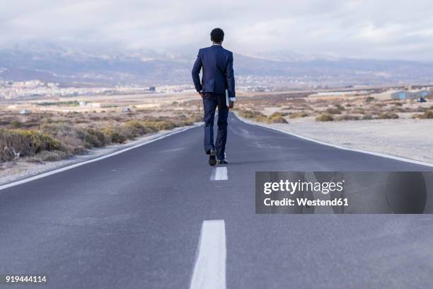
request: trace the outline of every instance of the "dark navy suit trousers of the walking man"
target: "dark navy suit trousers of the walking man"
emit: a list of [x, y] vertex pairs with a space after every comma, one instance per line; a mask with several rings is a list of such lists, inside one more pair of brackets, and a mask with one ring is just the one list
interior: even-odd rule
[[[214, 117], [218, 107], [218, 132], [214, 145]], [[226, 104], [226, 96], [217, 94], [204, 94], [204, 152], [210, 149], [217, 150], [217, 159], [224, 159], [227, 142], [227, 118], [229, 108]]]

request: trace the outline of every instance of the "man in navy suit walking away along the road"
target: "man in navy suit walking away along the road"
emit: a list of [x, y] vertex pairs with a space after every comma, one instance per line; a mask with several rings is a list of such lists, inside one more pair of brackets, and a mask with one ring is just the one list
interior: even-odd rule
[[[227, 117], [229, 108], [236, 100], [233, 75], [233, 53], [222, 47], [224, 31], [215, 28], [211, 32], [212, 46], [199, 50], [192, 67], [192, 81], [203, 98], [204, 108], [204, 152], [209, 154], [209, 164], [227, 164]], [[200, 70], [203, 69], [200, 82]], [[229, 107], [226, 104], [226, 90], [229, 93]], [[214, 116], [218, 107], [218, 133], [214, 145]]]

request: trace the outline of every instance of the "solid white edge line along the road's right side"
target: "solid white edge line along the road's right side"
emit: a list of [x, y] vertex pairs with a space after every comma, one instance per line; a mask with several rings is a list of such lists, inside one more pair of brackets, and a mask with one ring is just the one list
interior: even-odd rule
[[279, 130], [278, 128], [272, 128], [269, 125], [265, 125], [265, 124], [261, 124], [261, 123], [252, 123], [252, 122], [250, 122], [248, 120], [245, 120], [245, 119], [241, 118], [238, 115], [238, 113], [236, 113], [236, 112], [233, 112], [233, 113], [236, 115], [236, 118], [238, 118], [238, 120], [241, 120], [241, 122], [246, 123], [248, 125], [257, 125], [257, 126], [262, 127], [262, 128], [268, 128], [270, 130], [276, 130], [277, 132], [282, 132], [282, 133], [284, 133], [286, 135], [293, 135], [294, 137], [299, 137], [299, 138], [301, 138], [303, 140], [308, 140], [310, 142], [316, 142], [316, 143], [318, 143], [320, 145], [326, 145], [328, 147], [335, 147], [336, 149], [343, 149], [343, 150], [350, 151], [350, 152], [360, 152], [362, 154], [371, 154], [371, 155], [376, 156], [376, 157], [385, 157], [387, 159], [394, 159], [394, 160], [400, 161], [400, 162], [408, 162], [410, 164], [419, 164], [420, 166], [429, 166], [429, 167], [433, 168], [433, 164], [427, 163], [427, 162], [416, 161], [415, 159], [406, 159], [404, 157], [392, 156], [391, 154], [383, 154], [381, 152], [370, 152], [370, 151], [366, 151], [366, 150], [362, 150], [362, 149], [350, 149], [348, 147], [342, 147], [340, 145], [333, 145], [333, 144], [330, 144], [328, 142], [321, 142], [320, 140], [313, 140], [313, 139], [311, 139], [309, 137], [303, 137], [302, 135], [296, 135], [293, 132], [287, 132], [285, 130]]

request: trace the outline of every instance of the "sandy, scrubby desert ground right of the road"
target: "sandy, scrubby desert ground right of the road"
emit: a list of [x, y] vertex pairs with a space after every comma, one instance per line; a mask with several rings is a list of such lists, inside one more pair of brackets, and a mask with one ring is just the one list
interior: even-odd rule
[[433, 99], [391, 100], [368, 93], [287, 93], [239, 98], [238, 115], [352, 149], [433, 162]]

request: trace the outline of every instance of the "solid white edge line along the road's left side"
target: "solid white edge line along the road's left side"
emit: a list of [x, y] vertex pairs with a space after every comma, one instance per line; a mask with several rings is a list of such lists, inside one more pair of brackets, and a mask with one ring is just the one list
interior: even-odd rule
[[26, 178], [26, 179], [22, 179], [22, 180], [19, 180], [19, 181], [13, 181], [12, 183], [6, 183], [6, 184], [0, 186], [0, 191], [4, 190], [5, 188], [11, 188], [12, 186], [21, 185], [21, 183], [28, 183], [29, 181], [35, 181], [37, 179], [45, 178], [45, 176], [51, 176], [52, 174], [57, 174], [57, 173], [60, 173], [62, 171], [67, 171], [68, 169], [74, 169], [77, 166], [83, 166], [84, 164], [90, 164], [92, 162], [98, 162], [101, 159], [107, 159], [108, 157], [112, 157], [112, 156], [115, 156], [117, 154], [122, 154], [122, 152], [127, 152], [127, 151], [129, 151], [131, 149], [136, 149], [137, 147], [142, 147], [142, 146], [147, 145], [147, 144], [149, 144], [151, 142], [156, 142], [157, 140], [162, 140], [165, 137], [169, 137], [171, 135], [175, 135], [175, 134], [178, 134], [180, 132], [185, 132], [185, 130], [190, 130], [192, 128], [197, 128], [200, 125], [202, 125], [202, 124], [191, 125], [191, 126], [189, 126], [187, 128], [183, 128], [181, 130], [176, 130], [175, 132], [169, 132], [166, 135], [161, 135], [161, 137], [156, 137], [156, 138], [154, 138], [152, 140], [148, 140], [147, 142], [142, 142], [141, 144], [134, 145], [132, 147], [127, 147], [125, 149], [120, 149], [117, 152], [112, 152], [110, 154], [105, 154], [105, 155], [103, 155], [101, 157], [96, 157], [95, 159], [88, 159], [87, 161], [84, 161], [84, 162], [79, 162], [79, 163], [76, 163], [76, 164], [71, 164], [70, 166], [64, 166], [64, 167], [59, 168], [59, 169], [54, 169], [53, 171], [47, 171], [46, 173], [37, 174], [35, 176], [30, 176], [29, 178]]

